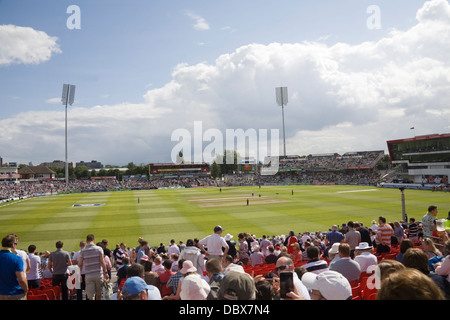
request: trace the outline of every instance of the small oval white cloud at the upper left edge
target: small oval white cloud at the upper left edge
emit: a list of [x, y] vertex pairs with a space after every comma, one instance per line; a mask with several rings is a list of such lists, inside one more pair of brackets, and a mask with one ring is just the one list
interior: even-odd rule
[[57, 38], [29, 27], [0, 25], [0, 66], [36, 64], [61, 53]]

